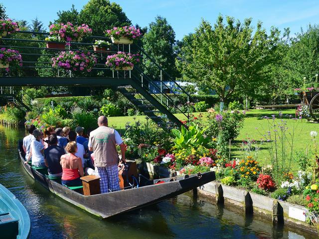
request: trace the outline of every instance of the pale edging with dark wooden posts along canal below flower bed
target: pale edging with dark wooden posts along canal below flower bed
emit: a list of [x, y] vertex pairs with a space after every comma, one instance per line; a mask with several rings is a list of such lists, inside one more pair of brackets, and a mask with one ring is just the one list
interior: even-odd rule
[[[286, 223], [317, 234], [319, 232], [318, 217], [305, 207], [226, 186], [215, 181], [204, 184], [197, 189], [198, 194], [216, 203], [236, 205], [244, 209], [246, 214], [260, 214], [272, 220], [274, 224]], [[308, 218], [315, 222], [313, 226], [306, 222]]]

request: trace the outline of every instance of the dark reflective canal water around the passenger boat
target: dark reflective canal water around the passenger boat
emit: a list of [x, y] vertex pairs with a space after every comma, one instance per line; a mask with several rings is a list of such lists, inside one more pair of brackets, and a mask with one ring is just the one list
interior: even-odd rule
[[[34, 182], [18, 160], [24, 129], [0, 125], [0, 183], [24, 205], [31, 239], [310, 239], [296, 228], [274, 228], [186, 193], [142, 210], [102, 221], [52, 195]], [[1, 238], [1, 236], [0, 236]]]

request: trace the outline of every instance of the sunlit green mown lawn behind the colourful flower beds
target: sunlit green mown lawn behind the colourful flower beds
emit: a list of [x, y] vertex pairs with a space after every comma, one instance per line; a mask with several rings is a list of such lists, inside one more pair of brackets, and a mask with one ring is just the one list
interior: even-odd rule
[[[282, 111], [284, 115], [292, 115], [295, 117], [295, 110], [285, 110]], [[198, 115], [200, 113], [194, 113], [194, 115]], [[205, 113], [202, 113], [205, 115]], [[276, 118], [279, 117], [279, 111], [271, 111], [271, 110], [251, 110], [246, 112], [244, 126], [240, 131], [240, 135], [236, 138], [236, 140], [231, 145], [231, 157], [240, 157], [240, 145], [242, 140], [247, 139], [248, 137], [255, 140], [260, 140], [263, 134], [266, 134], [268, 131], [268, 120], [261, 119], [263, 116], [271, 117], [271, 115], [276, 115]], [[175, 114], [178, 119], [185, 119], [182, 114]], [[121, 133], [124, 133], [125, 123], [130, 121], [134, 122], [134, 120], [145, 121], [145, 116], [136, 116], [136, 117], [110, 117], [109, 124], [113, 125], [115, 128], [120, 130]], [[305, 150], [306, 147], [312, 146], [312, 141], [310, 137], [310, 131], [316, 130], [319, 132], [319, 123], [307, 122], [307, 120], [298, 119], [293, 124], [292, 120], [288, 120], [289, 131], [292, 132], [292, 127], [295, 125], [295, 137], [294, 137], [294, 149], [295, 151]], [[257, 129], [256, 129], [257, 128]], [[258, 161], [262, 165], [270, 164], [269, 152], [267, 150], [268, 143], [264, 143], [258, 154]], [[295, 160], [298, 160], [295, 158]], [[297, 163], [294, 161], [293, 170], [297, 170]]]

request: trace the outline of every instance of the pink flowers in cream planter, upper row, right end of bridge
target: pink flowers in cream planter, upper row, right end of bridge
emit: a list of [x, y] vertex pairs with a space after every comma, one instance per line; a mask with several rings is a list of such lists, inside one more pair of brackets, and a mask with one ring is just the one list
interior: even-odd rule
[[106, 31], [106, 36], [111, 37], [112, 42], [116, 44], [132, 44], [133, 40], [141, 35], [140, 28], [134, 26], [113, 27]]

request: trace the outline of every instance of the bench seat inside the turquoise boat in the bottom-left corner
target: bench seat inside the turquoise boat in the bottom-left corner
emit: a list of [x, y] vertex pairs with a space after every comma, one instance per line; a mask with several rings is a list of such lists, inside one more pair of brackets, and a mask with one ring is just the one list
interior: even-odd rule
[[10, 213], [0, 213], [1, 238], [16, 238], [19, 234], [19, 220]]

